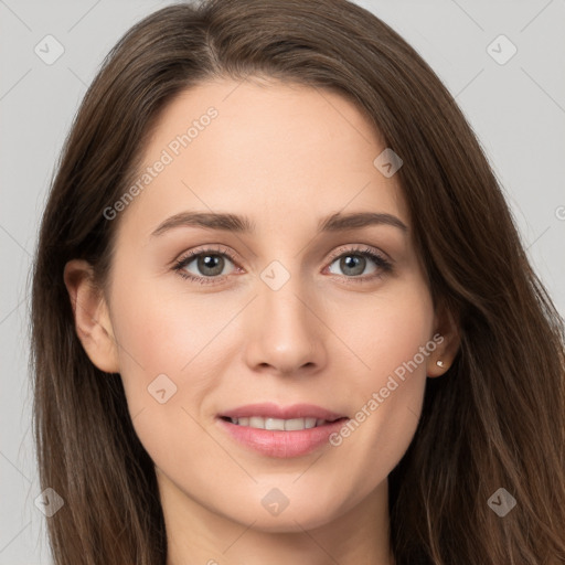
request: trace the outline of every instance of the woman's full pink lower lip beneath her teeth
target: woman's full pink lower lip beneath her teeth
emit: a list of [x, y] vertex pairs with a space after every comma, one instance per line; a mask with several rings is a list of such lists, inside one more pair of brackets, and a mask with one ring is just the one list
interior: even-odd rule
[[310, 454], [324, 444], [329, 444], [329, 436], [338, 431], [347, 418], [295, 431], [257, 429], [232, 424], [222, 418], [218, 418], [218, 422], [223, 429], [239, 444], [262, 455], [286, 459]]

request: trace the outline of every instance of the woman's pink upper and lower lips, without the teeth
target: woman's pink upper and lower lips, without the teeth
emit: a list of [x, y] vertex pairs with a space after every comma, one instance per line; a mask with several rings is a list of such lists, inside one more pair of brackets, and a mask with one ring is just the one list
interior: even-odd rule
[[[270, 418], [317, 418], [328, 422], [322, 426], [295, 431], [256, 429], [249, 426], [232, 424], [223, 418], [246, 418], [263, 416]], [[300, 457], [315, 451], [329, 443], [329, 436], [338, 431], [347, 416], [337, 414], [312, 404], [296, 404], [280, 407], [273, 403], [252, 404], [227, 411], [218, 415], [218, 424], [237, 443], [267, 457], [290, 458]]]

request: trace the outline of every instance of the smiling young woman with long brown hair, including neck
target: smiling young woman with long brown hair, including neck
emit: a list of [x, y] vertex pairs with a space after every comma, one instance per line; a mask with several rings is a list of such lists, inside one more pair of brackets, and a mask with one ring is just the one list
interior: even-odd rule
[[360, 7], [135, 25], [32, 317], [57, 564], [565, 559], [562, 320], [452, 97]]

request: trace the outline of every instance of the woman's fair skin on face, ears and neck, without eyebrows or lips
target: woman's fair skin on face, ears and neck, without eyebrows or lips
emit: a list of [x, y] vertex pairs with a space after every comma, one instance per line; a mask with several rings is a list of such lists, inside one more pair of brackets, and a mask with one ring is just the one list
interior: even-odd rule
[[[65, 269], [83, 345], [96, 366], [121, 374], [156, 463], [167, 563], [390, 565], [387, 476], [416, 430], [426, 376], [449, 367], [458, 337], [434, 309], [397, 175], [373, 166], [386, 146], [338, 94], [216, 79], [166, 108], [146, 166], [210, 106], [217, 118], [114, 220], [104, 292], [85, 262]], [[185, 211], [246, 215], [256, 231], [184, 225], [151, 235]], [[319, 220], [338, 212], [387, 213], [408, 230], [317, 234]], [[339, 259], [356, 245], [384, 256], [392, 271], [367, 258], [351, 274]], [[173, 270], [185, 252], [210, 246], [236, 259], [225, 258], [215, 284]], [[278, 290], [260, 278], [274, 260], [290, 276]], [[186, 270], [207, 273], [196, 260]], [[339, 447], [271, 458], [218, 425], [222, 411], [260, 402], [354, 417], [438, 332], [441, 344]], [[164, 404], [148, 393], [160, 374], [177, 386]], [[273, 488], [289, 501], [278, 515], [262, 504]]]

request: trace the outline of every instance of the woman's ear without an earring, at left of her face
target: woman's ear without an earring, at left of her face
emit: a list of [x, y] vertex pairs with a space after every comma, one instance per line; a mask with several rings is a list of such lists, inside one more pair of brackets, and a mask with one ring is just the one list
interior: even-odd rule
[[119, 358], [104, 294], [94, 284], [92, 265], [82, 259], [65, 265], [64, 281], [78, 339], [90, 361], [106, 373], [119, 373]]

